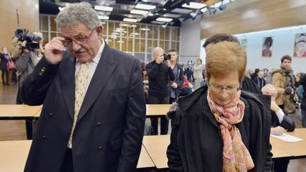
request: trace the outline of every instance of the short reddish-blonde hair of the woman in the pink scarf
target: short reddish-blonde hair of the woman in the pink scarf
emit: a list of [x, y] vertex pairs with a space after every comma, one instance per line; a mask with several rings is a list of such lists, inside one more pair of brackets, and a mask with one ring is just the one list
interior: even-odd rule
[[206, 76], [226, 77], [237, 71], [242, 83], [246, 70], [246, 52], [237, 42], [219, 42], [213, 45], [206, 55]]

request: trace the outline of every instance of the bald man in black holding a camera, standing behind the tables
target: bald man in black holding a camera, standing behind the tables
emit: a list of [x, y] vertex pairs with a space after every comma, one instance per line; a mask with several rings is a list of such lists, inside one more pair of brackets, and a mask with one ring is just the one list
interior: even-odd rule
[[[155, 47], [152, 52], [154, 60], [146, 66], [149, 76], [149, 104], [169, 104], [170, 100], [170, 81], [174, 81], [174, 72], [170, 67], [170, 60], [164, 62], [164, 50]], [[157, 118], [151, 118], [153, 133], [158, 134]], [[168, 133], [168, 120], [166, 116], [161, 117], [161, 134]]]

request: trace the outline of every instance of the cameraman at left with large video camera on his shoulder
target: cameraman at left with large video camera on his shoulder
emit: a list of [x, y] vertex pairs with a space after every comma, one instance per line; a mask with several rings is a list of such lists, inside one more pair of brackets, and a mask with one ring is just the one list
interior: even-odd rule
[[[20, 93], [21, 86], [26, 77], [33, 72], [44, 50], [42, 48], [42, 33], [40, 32], [34, 31], [32, 34], [21, 33], [18, 35], [18, 40], [22, 42], [21, 49], [23, 51], [20, 57], [16, 59], [16, 69], [19, 74], [16, 104], [23, 104]], [[32, 139], [33, 128], [31, 120], [26, 120], [26, 132], [28, 139]]]

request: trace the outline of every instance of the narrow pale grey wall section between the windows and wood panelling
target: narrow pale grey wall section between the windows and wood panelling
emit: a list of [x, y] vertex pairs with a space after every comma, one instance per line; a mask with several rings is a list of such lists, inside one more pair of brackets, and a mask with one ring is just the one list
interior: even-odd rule
[[179, 62], [188, 60], [196, 62], [200, 57], [200, 15], [196, 19], [188, 19], [181, 24]]

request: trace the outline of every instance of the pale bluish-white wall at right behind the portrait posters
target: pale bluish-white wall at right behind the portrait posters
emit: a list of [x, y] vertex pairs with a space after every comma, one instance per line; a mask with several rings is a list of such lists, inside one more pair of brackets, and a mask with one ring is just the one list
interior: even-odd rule
[[[248, 69], [269, 70], [280, 67], [280, 58], [284, 55], [293, 57], [295, 45], [295, 34], [306, 33], [306, 25], [295, 26], [290, 28], [279, 28], [274, 30], [264, 30], [254, 33], [244, 33], [235, 35], [239, 40], [246, 39], [246, 55]], [[261, 57], [263, 38], [273, 37], [272, 57]], [[204, 40], [201, 40], [203, 45]], [[205, 50], [200, 49], [201, 57], [205, 57]], [[306, 72], [306, 57], [293, 57], [291, 64], [295, 74], [298, 72]]]

